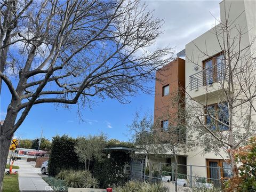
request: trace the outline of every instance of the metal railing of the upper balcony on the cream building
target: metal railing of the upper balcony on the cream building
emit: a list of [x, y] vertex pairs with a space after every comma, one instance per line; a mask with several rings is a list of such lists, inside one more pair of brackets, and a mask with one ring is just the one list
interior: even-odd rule
[[226, 65], [218, 63], [211, 68], [203, 69], [193, 75], [189, 76], [190, 91], [196, 91], [199, 87], [211, 85], [214, 82], [219, 82], [226, 79]]

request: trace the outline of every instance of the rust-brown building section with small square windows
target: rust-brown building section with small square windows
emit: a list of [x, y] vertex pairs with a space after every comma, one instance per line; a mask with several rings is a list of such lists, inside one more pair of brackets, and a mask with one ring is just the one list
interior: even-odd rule
[[[155, 106], [154, 121], [159, 123], [163, 133], [168, 130], [170, 124], [173, 125], [172, 118], [178, 113], [179, 103], [170, 103], [171, 97], [185, 98], [185, 60], [177, 58], [156, 72], [155, 83]], [[176, 118], [176, 117], [175, 117]], [[169, 137], [168, 137], [169, 138]], [[170, 154], [170, 153], [169, 153]], [[154, 159], [153, 162], [172, 163], [174, 158], [168, 154], [166, 157]], [[186, 156], [178, 156], [179, 164], [186, 164]], [[186, 167], [183, 167], [186, 172]], [[184, 171], [185, 170], [185, 171]]]

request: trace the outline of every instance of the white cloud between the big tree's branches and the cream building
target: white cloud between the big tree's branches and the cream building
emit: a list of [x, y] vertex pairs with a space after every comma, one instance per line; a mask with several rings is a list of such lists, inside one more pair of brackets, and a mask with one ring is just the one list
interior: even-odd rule
[[[194, 38], [211, 29], [220, 17], [220, 1], [145, 1], [154, 16], [163, 19], [162, 30], [152, 47], [175, 47], [176, 52]], [[214, 17], [215, 18], [214, 18]]]

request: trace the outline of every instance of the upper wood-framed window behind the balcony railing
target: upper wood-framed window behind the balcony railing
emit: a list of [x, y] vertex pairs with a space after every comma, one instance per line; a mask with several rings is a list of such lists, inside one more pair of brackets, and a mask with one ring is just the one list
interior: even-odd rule
[[225, 76], [225, 59], [222, 53], [214, 55], [203, 62], [204, 85], [221, 81]]

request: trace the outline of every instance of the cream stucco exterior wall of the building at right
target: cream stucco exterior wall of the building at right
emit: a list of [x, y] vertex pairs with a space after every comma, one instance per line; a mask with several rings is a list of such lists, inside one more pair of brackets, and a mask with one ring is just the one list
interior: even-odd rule
[[[241, 44], [242, 46], [250, 44], [250, 40], [256, 36], [256, 1], [222, 1], [220, 3], [220, 15], [222, 21], [225, 20], [225, 6], [226, 10], [229, 10], [229, 7], [231, 6], [229, 20], [235, 21], [238, 15], [242, 13], [241, 16], [234, 22], [234, 25], [244, 28], [245, 31], [249, 30], [249, 33], [243, 37]], [[204, 55], [202, 52], [207, 53], [207, 55]], [[221, 48], [217, 41], [216, 35], [214, 34], [214, 28], [206, 31], [206, 33], [202, 34], [186, 45], [186, 91], [190, 97], [196, 99], [197, 101], [201, 101], [202, 103], [205, 103], [206, 87], [203, 86], [199, 87], [197, 91], [190, 91], [189, 76], [202, 69], [202, 61], [209, 58], [209, 55], [212, 56], [218, 54], [219, 52], [221, 52]], [[199, 70], [196, 71], [194, 69], [195, 66], [198, 66]], [[219, 97], [220, 89], [218, 89], [218, 85], [213, 83], [213, 85], [211, 87], [207, 87], [207, 89], [207, 93], [210, 92], [208, 94], [207, 103], [212, 104], [219, 102], [221, 98]], [[228, 158], [227, 153], [225, 153], [223, 150], [218, 156], [213, 153], [203, 155], [202, 151], [202, 148], [198, 148], [196, 151], [191, 151], [188, 153], [187, 164], [206, 166], [206, 159], [222, 159], [222, 157]], [[189, 169], [187, 172], [189, 174]], [[201, 175], [201, 177], [206, 177], [207, 170], [205, 167], [193, 167], [193, 175], [195, 174]]]

